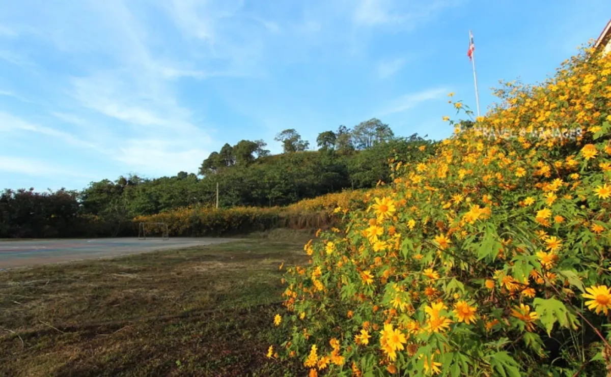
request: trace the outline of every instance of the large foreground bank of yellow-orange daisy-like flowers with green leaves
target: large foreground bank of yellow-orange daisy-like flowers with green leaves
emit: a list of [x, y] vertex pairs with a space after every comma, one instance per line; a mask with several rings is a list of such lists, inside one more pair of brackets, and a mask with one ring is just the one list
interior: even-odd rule
[[268, 357], [310, 376], [611, 373], [610, 84], [611, 55], [584, 48], [468, 129], [444, 117], [434, 157], [392, 161], [393, 188], [304, 246]]

